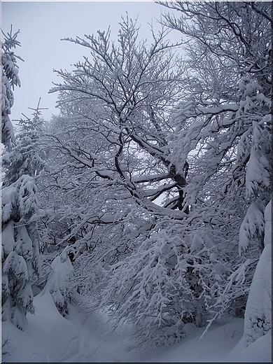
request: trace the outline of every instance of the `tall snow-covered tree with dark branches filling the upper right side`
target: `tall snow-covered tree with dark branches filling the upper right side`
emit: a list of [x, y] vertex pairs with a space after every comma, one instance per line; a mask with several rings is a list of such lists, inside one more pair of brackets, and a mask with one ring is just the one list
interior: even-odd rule
[[[221, 297], [225, 301], [230, 290], [226, 297], [231, 305], [239, 290], [248, 293], [253, 268], [246, 267], [255, 267], [264, 248], [264, 211], [271, 198], [271, 4], [162, 5], [179, 10], [181, 16], [167, 14], [162, 21], [185, 37], [193, 75], [188, 95], [173, 116], [174, 158], [185, 160], [194, 153], [195, 171], [185, 188], [186, 200], [199, 216], [206, 214], [220, 241], [235, 241], [238, 246], [242, 265], [230, 275], [233, 287], [228, 283]], [[223, 235], [230, 228], [233, 233]], [[238, 273], [244, 276], [239, 290]], [[271, 318], [265, 321], [271, 325]]]

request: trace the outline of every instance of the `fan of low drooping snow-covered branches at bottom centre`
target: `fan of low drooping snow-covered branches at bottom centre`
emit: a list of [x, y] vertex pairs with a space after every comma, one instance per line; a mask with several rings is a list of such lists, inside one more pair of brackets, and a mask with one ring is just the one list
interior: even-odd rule
[[110, 307], [114, 325], [132, 321], [139, 342], [155, 346], [179, 342], [189, 326], [204, 325], [204, 290], [217, 295], [224, 274], [216, 277], [216, 263], [209, 258], [215, 246], [200, 248], [204, 244], [197, 235], [185, 234], [179, 224], [159, 222], [131, 255], [111, 265], [103, 279], [107, 286], [97, 300]]

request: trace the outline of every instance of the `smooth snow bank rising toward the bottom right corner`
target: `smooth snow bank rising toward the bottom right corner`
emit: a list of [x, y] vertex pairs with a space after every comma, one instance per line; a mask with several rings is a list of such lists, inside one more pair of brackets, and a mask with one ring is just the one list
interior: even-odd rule
[[246, 348], [243, 336], [244, 320], [239, 319], [215, 328], [213, 325], [202, 339], [204, 328], [193, 332], [194, 337], [186, 339], [164, 355], [149, 361], [155, 363], [271, 363], [271, 342], [269, 332]]

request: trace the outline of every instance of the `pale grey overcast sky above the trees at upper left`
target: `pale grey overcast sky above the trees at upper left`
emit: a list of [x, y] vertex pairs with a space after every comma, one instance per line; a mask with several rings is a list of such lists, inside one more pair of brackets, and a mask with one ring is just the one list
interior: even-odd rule
[[[49, 120], [55, 109], [57, 93], [48, 94], [53, 82], [60, 82], [53, 69], [71, 70], [72, 64], [88, 55], [80, 45], [61, 38], [96, 34], [111, 25], [112, 38], [118, 34], [118, 22], [126, 11], [130, 18], [139, 16], [141, 38], [150, 37], [148, 22], [160, 18], [165, 8], [151, 1], [2, 1], [1, 28], [6, 33], [20, 29], [15, 49], [25, 62], [18, 60], [21, 87], [15, 87], [15, 102], [11, 119], [20, 119], [22, 113], [31, 116], [28, 107], [35, 108], [41, 97], [43, 118]], [[155, 23], [155, 19], [153, 20]], [[176, 40], [179, 34], [174, 35]], [[151, 38], [150, 38], [151, 39]]]

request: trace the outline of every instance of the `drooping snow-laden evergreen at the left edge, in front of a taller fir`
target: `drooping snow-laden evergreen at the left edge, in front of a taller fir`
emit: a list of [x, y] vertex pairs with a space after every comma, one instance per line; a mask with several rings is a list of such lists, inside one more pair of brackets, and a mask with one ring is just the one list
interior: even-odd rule
[[27, 312], [34, 313], [31, 279], [41, 266], [33, 219], [36, 192], [34, 179], [27, 174], [2, 189], [2, 320], [21, 330]]

